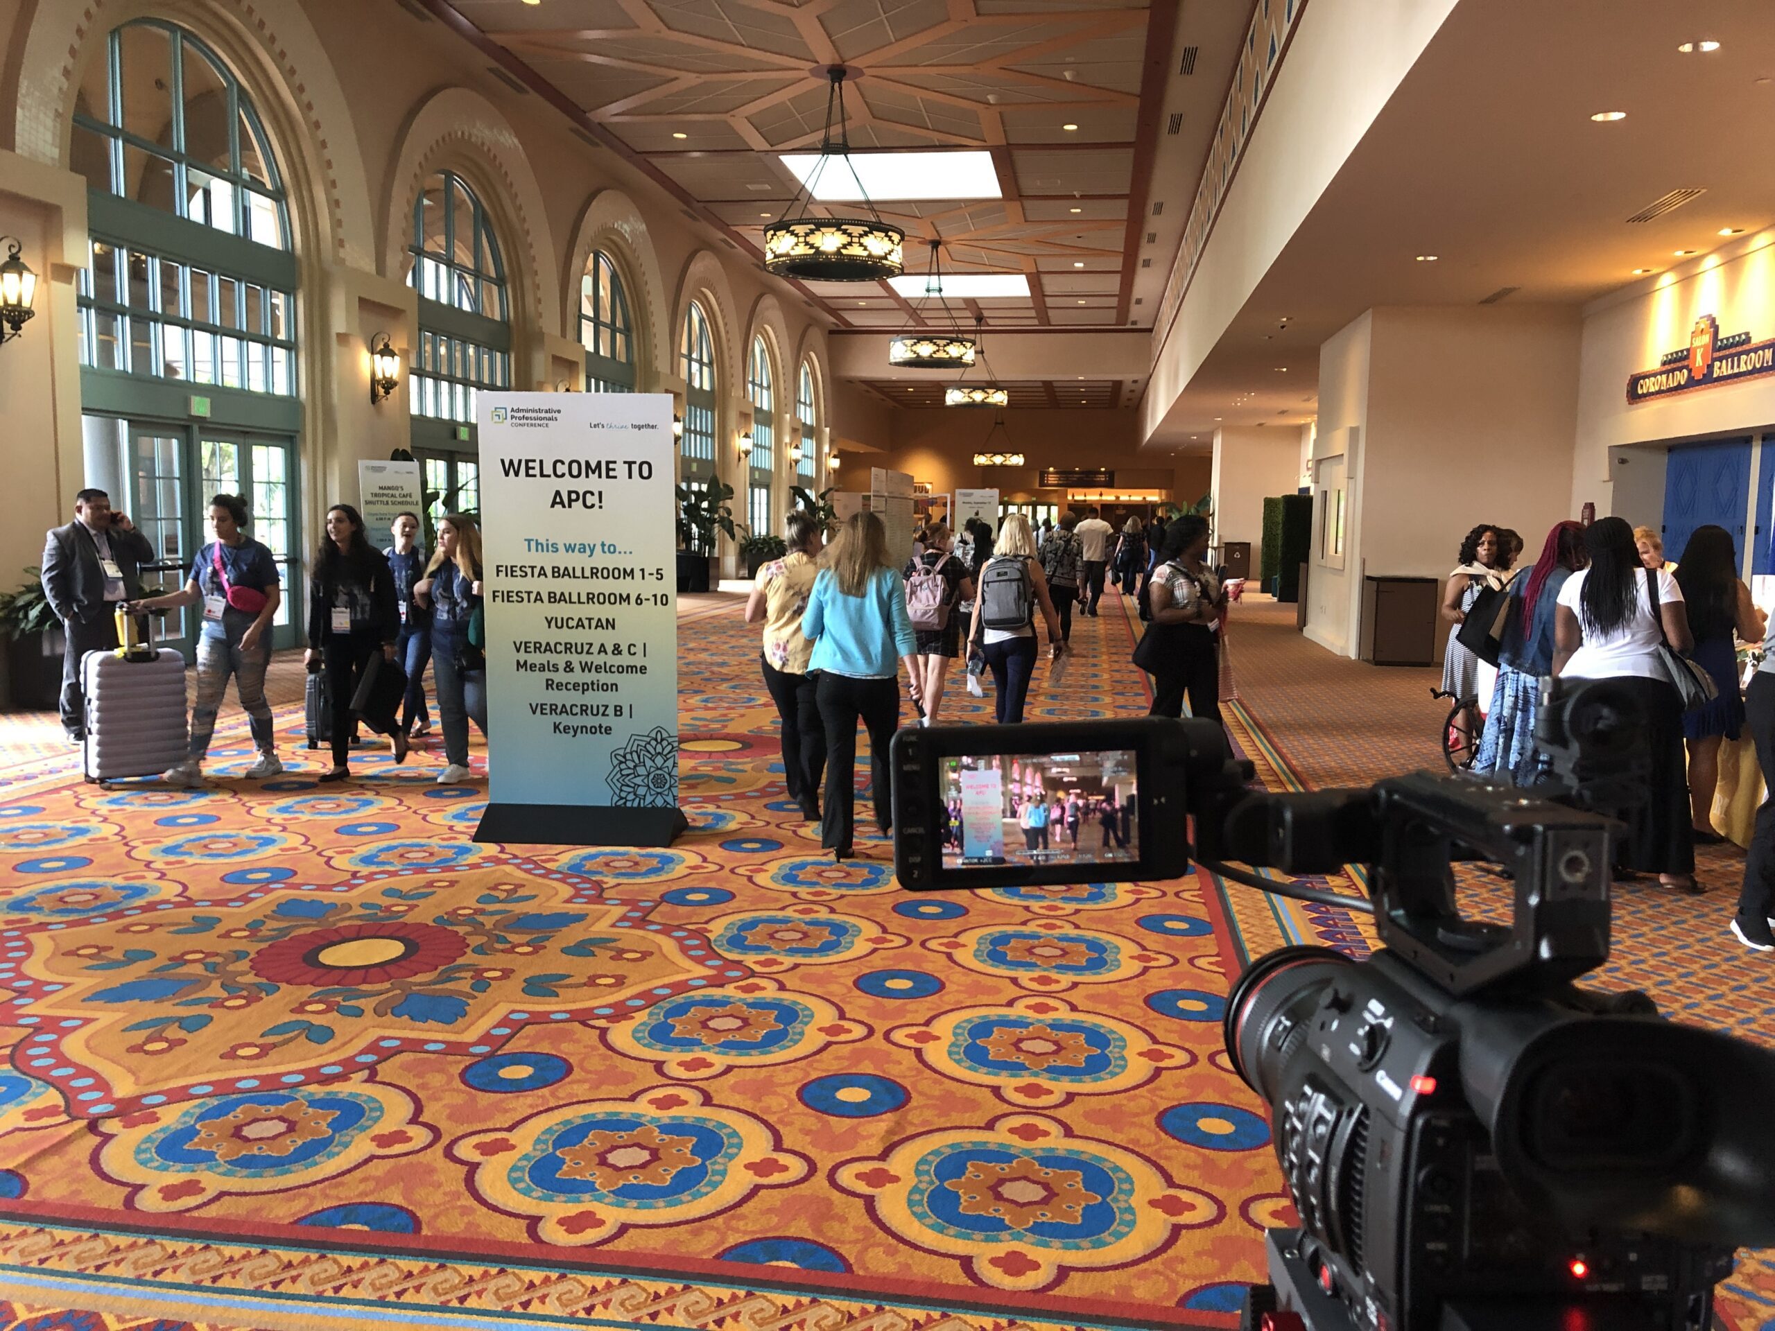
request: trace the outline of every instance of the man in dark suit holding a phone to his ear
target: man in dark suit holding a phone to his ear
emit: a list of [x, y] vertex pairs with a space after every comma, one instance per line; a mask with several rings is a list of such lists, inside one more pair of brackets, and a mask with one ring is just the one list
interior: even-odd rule
[[53, 527], [43, 543], [43, 595], [62, 621], [62, 729], [75, 744], [85, 738], [85, 697], [80, 658], [117, 646], [117, 603], [142, 596], [142, 564], [154, 547], [128, 515], [114, 513], [103, 490], [75, 495], [75, 520]]

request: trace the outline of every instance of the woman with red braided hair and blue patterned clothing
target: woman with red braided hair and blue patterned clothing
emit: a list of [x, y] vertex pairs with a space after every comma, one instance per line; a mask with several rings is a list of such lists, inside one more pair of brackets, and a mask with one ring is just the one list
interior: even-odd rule
[[1518, 786], [1541, 779], [1535, 705], [1541, 680], [1553, 673], [1553, 605], [1566, 579], [1587, 563], [1583, 524], [1558, 522], [1548, 532], [1534, 570], [1511, 587], [1511, 614], [1498, 644], [1498, 687], [1473, 760], [1475, 772], [1495, 772]]

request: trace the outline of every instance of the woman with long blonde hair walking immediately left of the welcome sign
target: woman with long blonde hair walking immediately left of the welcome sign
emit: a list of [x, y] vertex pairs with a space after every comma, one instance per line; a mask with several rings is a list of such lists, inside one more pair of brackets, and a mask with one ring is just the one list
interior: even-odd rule
[[431, 607], [431, 664], [444, 729], [440, 786], [469, 779], [469, 717], [486, 735], [486, 630], [481, 618], [481, 529], [465, 513], [438, 522], [438, 548], [414, 600]]

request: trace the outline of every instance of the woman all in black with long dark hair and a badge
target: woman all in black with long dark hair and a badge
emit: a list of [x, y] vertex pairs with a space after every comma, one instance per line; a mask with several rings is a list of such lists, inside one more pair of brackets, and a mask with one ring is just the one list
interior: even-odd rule
[[364, 539], [364, 518], [350, 504], [327, 509], [327, 539], [314, 552], [309, 579], [309, 650], [302, 664], [309, 671], [327, 671], [332, 699], [332, 770], [321, 781], [344, 781], [351, 756], [353, 719], [389, 736], [394, 761], [406, 760], [406, 735], [394, 712], [399, 696], [387, 708], [353, 713], [351, 697], [378, 651], [394, 666], [394, 639], [401, 632], [399, 602], [389, 561]]

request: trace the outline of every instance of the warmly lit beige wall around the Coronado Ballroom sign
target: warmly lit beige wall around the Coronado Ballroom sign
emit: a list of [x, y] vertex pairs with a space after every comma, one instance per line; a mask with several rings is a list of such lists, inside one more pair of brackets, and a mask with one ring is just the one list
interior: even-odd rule
[[1585, 309], [1574, 506], [1590, 500], [1598, 513], [1656, 524], [1663, 504], [1661, 447], [1624, 445], [1775, 428], [1775, 376], [1649, 403], [1628, 401], [1628, 374], [1653, 369], [1667, 351], [1686, 348], [1695, 319], [1704, 314], [1718, 319], [1722, 337], [1738, 332], [1748, 332], [1754, 343], [1775, 337], [1775, 231], [1745, 236]]

